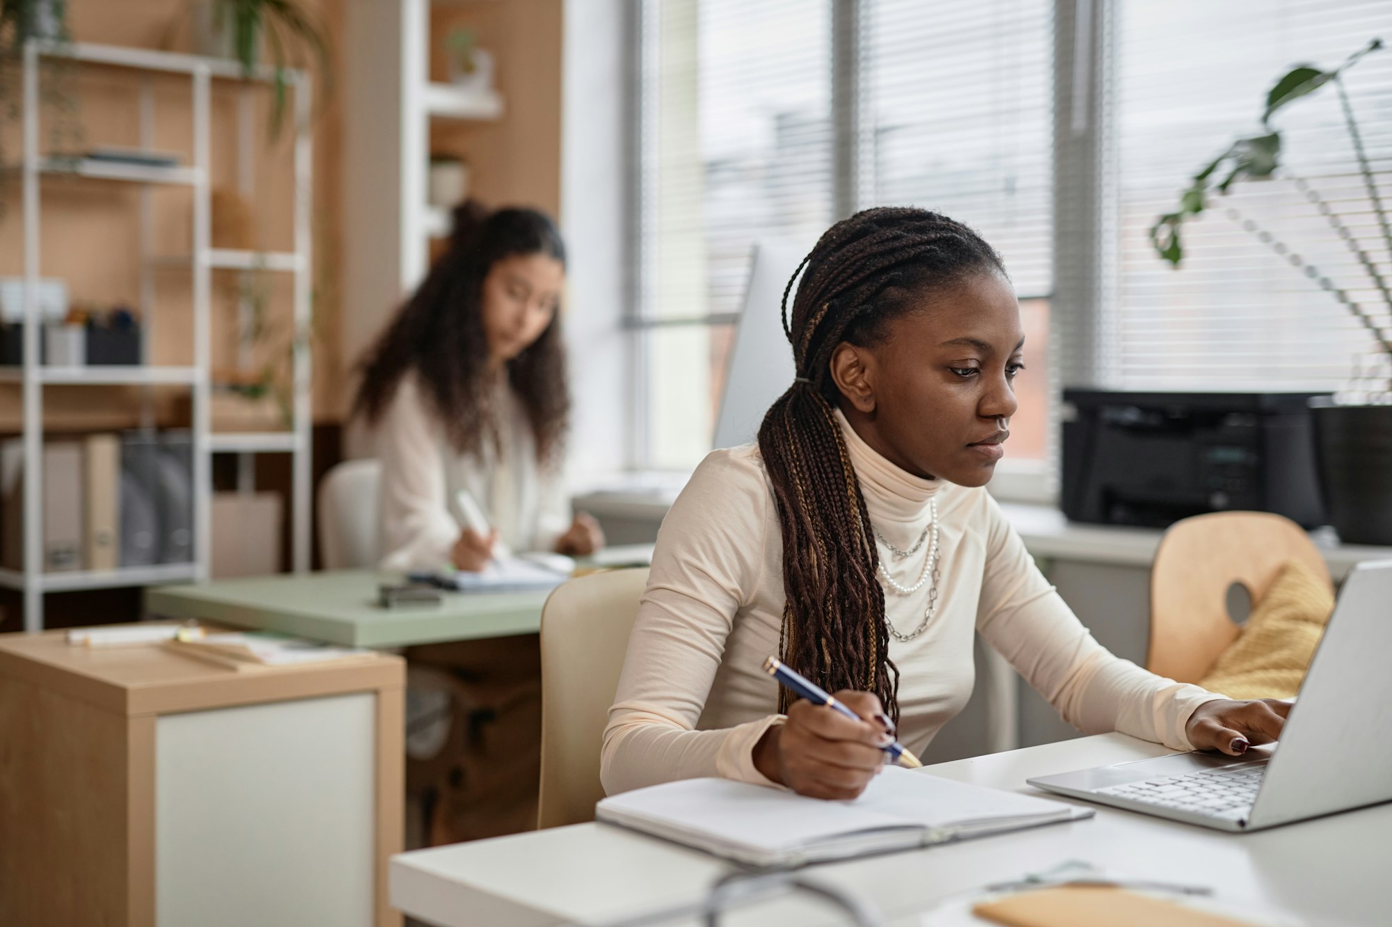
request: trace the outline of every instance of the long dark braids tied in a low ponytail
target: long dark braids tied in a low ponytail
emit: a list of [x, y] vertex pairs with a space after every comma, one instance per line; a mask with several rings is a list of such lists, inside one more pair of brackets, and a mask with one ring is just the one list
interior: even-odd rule
[[[788, 294], [803, 269], [789, 322]], [[784, 290], [784, 331], [798, 373], [759, 429], [782, 528], [780, 658], [828, 692], [876, 693], [895, 722], [899, 670], [889, 660], [880, 557], [832, 415], [841, 391], [831, 355], [844, 341], [874, 347], [885, 324], [913, 312], [923, 295], [990, 271], [1005, 273], [999, 255], [962, 223], [878, 207], [832, 225]], [[781, 689], [778, 710], [791, 702]]]

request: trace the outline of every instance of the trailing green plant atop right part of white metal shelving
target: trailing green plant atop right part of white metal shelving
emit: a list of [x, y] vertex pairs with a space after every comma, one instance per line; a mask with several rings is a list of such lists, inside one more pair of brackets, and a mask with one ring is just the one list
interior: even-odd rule
[[[210, 21], [212, 35], [199, 40], [203, 52], [221, 53], [231, 49], [231, 57], [251, 75], [260, 64], [262, 46], [270, 53], [271, 78], [271, 138], [280, 135], [285, 121], [285, 71], [303, 64], [308, 52], [319, 65], [324, 93], [331, 90], [333, 56], [329, 38], [313, 14], [301, 0], [196, 0], [195, 22]], [[210, 10], [209, 10], [210, 7]], [[207, 15], [210, 13], [210, 15]]]

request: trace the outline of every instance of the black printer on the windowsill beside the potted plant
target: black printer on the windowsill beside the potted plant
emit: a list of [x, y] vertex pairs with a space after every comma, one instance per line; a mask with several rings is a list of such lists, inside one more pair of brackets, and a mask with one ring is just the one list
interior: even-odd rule
[[1165, 528], [1244, 509], [1324, 525], [1314, 395], [1063, 390], [1063, 514]]

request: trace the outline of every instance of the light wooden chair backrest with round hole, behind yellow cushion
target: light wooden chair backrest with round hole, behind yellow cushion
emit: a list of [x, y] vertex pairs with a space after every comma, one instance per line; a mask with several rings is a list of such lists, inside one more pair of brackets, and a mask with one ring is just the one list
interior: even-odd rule
[[1228, 615], [1229, 586], [1242, 585], [1257, 603], [1292, 560], [1328, 580], [1329, 569], [1310, 536], [1282, 515], [1212, 512], [1171, 525], [1150, 569], [1146, 668], [1176, 682], [1199, 682], [1237, 636]]

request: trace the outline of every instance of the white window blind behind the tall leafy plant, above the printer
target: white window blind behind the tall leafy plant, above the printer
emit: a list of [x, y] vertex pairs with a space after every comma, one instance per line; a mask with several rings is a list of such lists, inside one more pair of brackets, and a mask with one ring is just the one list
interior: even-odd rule
[[[1175, 210], [1201, 166], [1258, 129], [1279, 75], [1302, 63], [1331, 68], [1375, 36], [1392, 40], [1392, 4], [1171, 0], [1112, 8], [1109, 157], [1100, 178], [1102, 246], [1109, 251], [1097, 308], [1105, 337], [1102, 383], [1173, 390], [1345, 386], [1354, 363], [1367, 369], [1371, 340], [1317, 280], [1272, 248], [1283, 244], [1392, 324], [1368, 276], [1293, 180], [1318, 191], [1382, 273], [1392, 271], [1335, 88], [1274, 117], [1283, 134], [1282, 178], [1239, 182], [1228, 196], [1215, 196], [1208, 212], [1185, 224], [1179, 270], [1155, 255], [1147, 231], [1157, 216]], [[1346, 86], [1384, 202], [1392, 205], [1392, 50], [1368, 54], [1347, 72]]]

